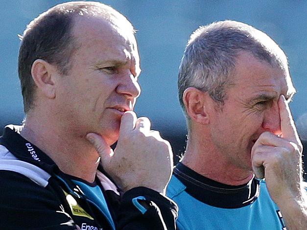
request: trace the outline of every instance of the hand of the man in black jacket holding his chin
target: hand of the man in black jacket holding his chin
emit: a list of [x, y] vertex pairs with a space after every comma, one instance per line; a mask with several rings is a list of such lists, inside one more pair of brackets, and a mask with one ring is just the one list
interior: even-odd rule
[[137, 119], [132, 111], [122, 115], [114, 152], [101, 136], [91, 133], [87, 137], [104, 170], [123, 191], [143, 186], [165, 193], [172, 174], [172, 150], [158, 131], [150, 130], [147, 117]]

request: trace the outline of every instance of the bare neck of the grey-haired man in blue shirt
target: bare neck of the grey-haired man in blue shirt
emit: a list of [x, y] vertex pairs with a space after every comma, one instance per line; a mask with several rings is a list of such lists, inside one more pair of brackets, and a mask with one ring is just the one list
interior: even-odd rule
[[214, 146], [204, 143], [212, 142], [199, 137], [192, 138], [189, 134], [182, 163], [198, 174], [222, 184], [241, 185], [252, 180], [251, 170], [234, 165]]

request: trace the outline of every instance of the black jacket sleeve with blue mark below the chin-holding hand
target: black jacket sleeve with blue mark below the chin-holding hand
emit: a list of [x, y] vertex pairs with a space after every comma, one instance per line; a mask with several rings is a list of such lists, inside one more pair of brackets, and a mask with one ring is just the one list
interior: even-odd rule
[[175, 230], [177, 205], [160, 193], [136, 187], [121, 197], [118, 230]]

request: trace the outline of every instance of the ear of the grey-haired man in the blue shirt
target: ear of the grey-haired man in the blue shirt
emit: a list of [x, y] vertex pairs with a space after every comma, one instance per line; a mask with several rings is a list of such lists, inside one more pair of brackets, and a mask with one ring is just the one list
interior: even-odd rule
[[183, 93], [183, 102], [190, 119], [203, 124], [209, 124], [210, 117], [208, 111], [208, 97], [206, 92], [202, 92], [194, 87], [189, 87]]

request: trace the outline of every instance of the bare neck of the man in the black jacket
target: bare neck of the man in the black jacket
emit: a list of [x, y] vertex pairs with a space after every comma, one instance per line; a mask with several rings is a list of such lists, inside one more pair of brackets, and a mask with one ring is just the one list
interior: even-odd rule
[[27, 116], [21, 136], [45, 152], [62, 172], [94, 182], [100, 158], [86, 134], [75, 134], [69, 127], [45, 120]]

